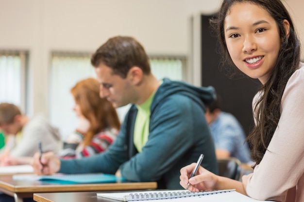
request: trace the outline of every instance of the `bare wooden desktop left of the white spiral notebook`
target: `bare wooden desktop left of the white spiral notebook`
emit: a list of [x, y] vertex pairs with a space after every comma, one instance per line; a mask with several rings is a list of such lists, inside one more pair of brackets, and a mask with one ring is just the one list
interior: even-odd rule
[[34, 193], [36, 202], [117, 202], [97, 197], [101, 192], [65, 192], [65, 193]]

